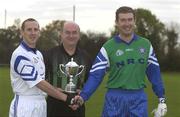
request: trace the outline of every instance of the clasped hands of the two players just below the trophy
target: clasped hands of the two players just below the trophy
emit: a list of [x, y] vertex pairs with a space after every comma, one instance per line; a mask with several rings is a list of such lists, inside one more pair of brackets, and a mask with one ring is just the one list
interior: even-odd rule
[[75, 94], [67, 94], [66, 104], [73, 110], [76, 110], [84, 104], [84, 100], [81, 96]]

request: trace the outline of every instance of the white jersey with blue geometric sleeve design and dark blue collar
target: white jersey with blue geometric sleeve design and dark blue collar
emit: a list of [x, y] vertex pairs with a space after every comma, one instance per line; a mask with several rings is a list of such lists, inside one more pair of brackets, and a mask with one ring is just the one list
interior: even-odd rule
[[17, 95], [45, 95], [36, 85], [45, 79], [45, 65], [40, 51], [22, 42], [13, 52], [10, 63], [13, 92]]

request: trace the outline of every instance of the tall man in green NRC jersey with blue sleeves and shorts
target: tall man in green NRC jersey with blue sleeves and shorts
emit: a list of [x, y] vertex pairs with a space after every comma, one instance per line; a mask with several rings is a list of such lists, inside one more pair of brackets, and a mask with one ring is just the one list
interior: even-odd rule
[[147, 75], [159, 99], [155, 116], [164, 116], [167, 106], [159, 63], [151, 43], [134, 33], [134, 10], [126, 6], [117, 9], [115, 23], [118, 34], [101, 48], [76, 99], [87, 101], [108, 72], [102, 117], [147, 117], [147, 96], [143, 90]]

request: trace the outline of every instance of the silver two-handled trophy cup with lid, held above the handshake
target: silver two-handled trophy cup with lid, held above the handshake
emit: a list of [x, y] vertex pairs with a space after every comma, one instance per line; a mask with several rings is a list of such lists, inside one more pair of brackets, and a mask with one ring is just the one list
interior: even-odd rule
[[60, 64], [59, 69], [64, 75], [69, 77], [69, 83], [65, 87], [65, 92], [76, 93], [76, 85], [73, 83], [73, 79], [82, 73], [82, 71], [84, 70], [84, 66], [78, 65], [73, 61], [73, 58], [71, 58], [71, 61], [66, 65]]

